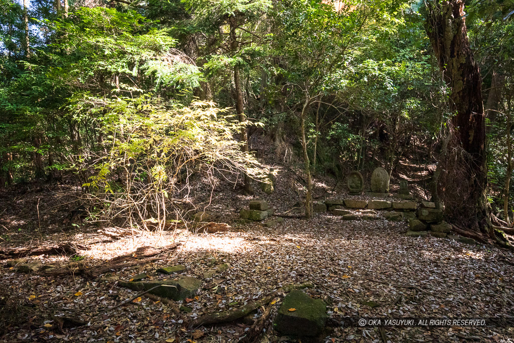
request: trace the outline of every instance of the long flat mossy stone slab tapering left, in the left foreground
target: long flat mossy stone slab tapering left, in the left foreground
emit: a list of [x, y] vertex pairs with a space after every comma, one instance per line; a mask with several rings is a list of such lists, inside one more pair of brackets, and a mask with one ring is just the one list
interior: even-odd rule
[[182, 276], [174, 280], [138, 282], [118, 281], [118, 284], [122, 287], [130, 288], [131, 290], [138, 292], [148, 291], [151, 288], [158, 286], [150, 293], [159, 297], [178, 301], [185, 300], [186, 298], [193, 298], [201, 284], [203, 284], [203, 281], [190, 276]]

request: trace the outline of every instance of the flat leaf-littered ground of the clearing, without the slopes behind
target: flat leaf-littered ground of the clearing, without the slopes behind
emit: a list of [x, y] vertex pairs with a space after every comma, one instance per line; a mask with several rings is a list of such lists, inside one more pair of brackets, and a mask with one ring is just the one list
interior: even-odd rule
[[[286, 219], [275, 228], [247, 225], [221, 233], [195, 235], [188, 230], [164, 231], [162, 236], [135, 231], [134, 236], [99, 241], [97, 229], [68, 231], [66, 240], [89, 247], [80, 255], [91, 265], [127, 254], [139, 246], [181, 246], [160, 255], [158, 261], [113, 273], [120, 280], [183, 264], [182, 275], [204, 278], [213, 265], [230, 263], [224, 273], [205, 280], [211, 286], [184, 305], [191, 313], [175, 316], [166, 304], [142, 297], [113, 310], [137, 292], [112, 282], [82, 277], [58, 278], [14, 273], [1, 268], [2, 288], [9, 297], [29, 303], [30, 320], [11, 327], [0, 338], [14, 341], [112, 342], [226, 342], [244, 335], [249, 326], [235, 322], [189, 328], [198, 315], [236, 308], [271, 294], [288, 283], [310, 281], [306, 292], [328, 304], [329, 329], [325, 341], [383, 341], [377, 329], [341, 327], [344, 317], [493, 317], [512, 315], [514, 266], [502, 261], [509, 252], [497, 247], [470, 246], [436, 238], [403, 236], [406, 224], [387, 221], [348, 222], [331, 214], [310, 221]], [[55, 233], [48, 242], [62, 241]], [[66, 257], [43, 256], [30, 260], [62, 264]], [[373, 308], [369, 305], [373, 303]], [[277, 302], [276, 306], [280, 304]], [[276, 308], [273, 310], [276, 311]], [[59, 330], [52, 315], [72, 316], [87, 322]], [[271, 317], [273, 318], [273, 316]], [[512, 328], [402, 328], [386, 329], [398, 341], [514, 341]], [[263, 341], [287, 341], [271, 323]]]

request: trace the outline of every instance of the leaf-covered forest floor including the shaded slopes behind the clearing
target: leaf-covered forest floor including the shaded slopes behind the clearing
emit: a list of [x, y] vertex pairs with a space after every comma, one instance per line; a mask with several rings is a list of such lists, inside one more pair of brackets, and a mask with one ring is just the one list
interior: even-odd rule
[[[426, 172], [419, 172], [418, 181], [410, 180], [418, 198], [426, 197], [423, 187], [419, 187], [426, 177], [423, 173]], [[366, 316], [512, 316], [512, 253], [496, 246], [409, 238], [404, 236], [406, 223], [342, 221], [329, 213], [316, 214], [308, 221], [285, 218], [273, 228], [258, 223], [236, 225], [237, 213], [254, 198], [266, 199], [279, 213], [298, 206], [302, 198], [301, 175], [289, 168], [277, 181], [272, 194], [266, 195], [255, 187], [253, 197], [221, 183], [195, 184], [190, 191], [195, 195], [197, 210], [216, 212], [216, 222], [231, 225], [225, 232], [201, 234], [183, 228], [157, 234], [108, 227], [105, 223], [104, 227], [79, 224], [70, 228], [64, 224], [66, 216], [77, 206], [81, 194], [80, 188], [70, 185], [28, 185], [0, 193], [0, 249], [64, 241], [87, 247], [77, 256], [33, 256], [27, 258], [28, 262], [94, 268], [139, 247], [180, 243], [155, 261], [117, 269], [102, 278], [74, 275], [71, 269], [57, 277], [16, 273], [16, 268], [5, 267], [3, 261], [0, 341], [237, 341], [251, 323], [235, 321], [197, 328], [189, 323], [206, 313], [235, 309], [262, 299], [285, 284], [311, 282], [313, 286], [304, 291], [327, 303], [329, 319], [323, 335], [326, 342], [514, 342], [514, 329], [503, 327], [379, 330], [348, 325], [348, 318]], [[347, 197], [341, 191], [342, 183], [334, 180], [317, 178], [314, 185], [317, 201]], [[230, 264], [225, 272], [212, 278], [204, 274], [224, 263]], [[130, 280], [143, 272], [154, 280], [173, 278], [157, 274], [156, 269], [175, 264], [186, 266], [181, 275], [204, 281], [195, 298], [176, 302], [191, 312], [176, 315], [168, 304], [145, 296], [133, 302], [138, 292], [117, 284], [117, 280]], [[295, 341], [272, 329], [272, 319], [282, 300], [280, 296], [272, 305], [260, 341]], [[255, 316], [259, 317], [263, 309]], [[54, 316], [71, 317], [85, 325], [61, 328]]]

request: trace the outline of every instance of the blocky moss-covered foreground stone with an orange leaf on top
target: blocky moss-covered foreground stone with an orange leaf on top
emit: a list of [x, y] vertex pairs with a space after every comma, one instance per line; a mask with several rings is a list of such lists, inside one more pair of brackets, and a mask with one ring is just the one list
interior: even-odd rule
[[284, 298], [273, 327], [283, 335], [316, 337], [323, 332], [326, 318], [323, 300], [292, 291]]

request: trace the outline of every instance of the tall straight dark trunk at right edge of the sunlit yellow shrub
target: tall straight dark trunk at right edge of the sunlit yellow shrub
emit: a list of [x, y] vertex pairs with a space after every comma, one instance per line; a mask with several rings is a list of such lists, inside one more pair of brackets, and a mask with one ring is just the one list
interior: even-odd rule
[[[235, 28], [236, 28], [236, 20], [232, 19], [232, 21], [230, 23], [230, 46], [231, 46], [232, 52], [234, 52], [234, 53], [237, 50], [237, 37], [235, 34]], [[245, 115], [245, 107], [244, 107], [244, 101], [243, 101], [243, 86], [241, 84], [240, 68], [237, 64], [234, 66], [234, 86], [235, 86], [235, 95], [236, 95], [235, 112], [237, 113], [239, 121], [245, 122], [246, 115]], [[242, 150], [244, 152], [248, 152], [248, 133], [247, 133], [246, 128], [241, 129], [241, 142], [243, 143]], [[253, 193], [252, 186], [250, 185], [250, 177], [248, 176], [248, 174], [245, 174], [245, 192], [248, 194]]]

